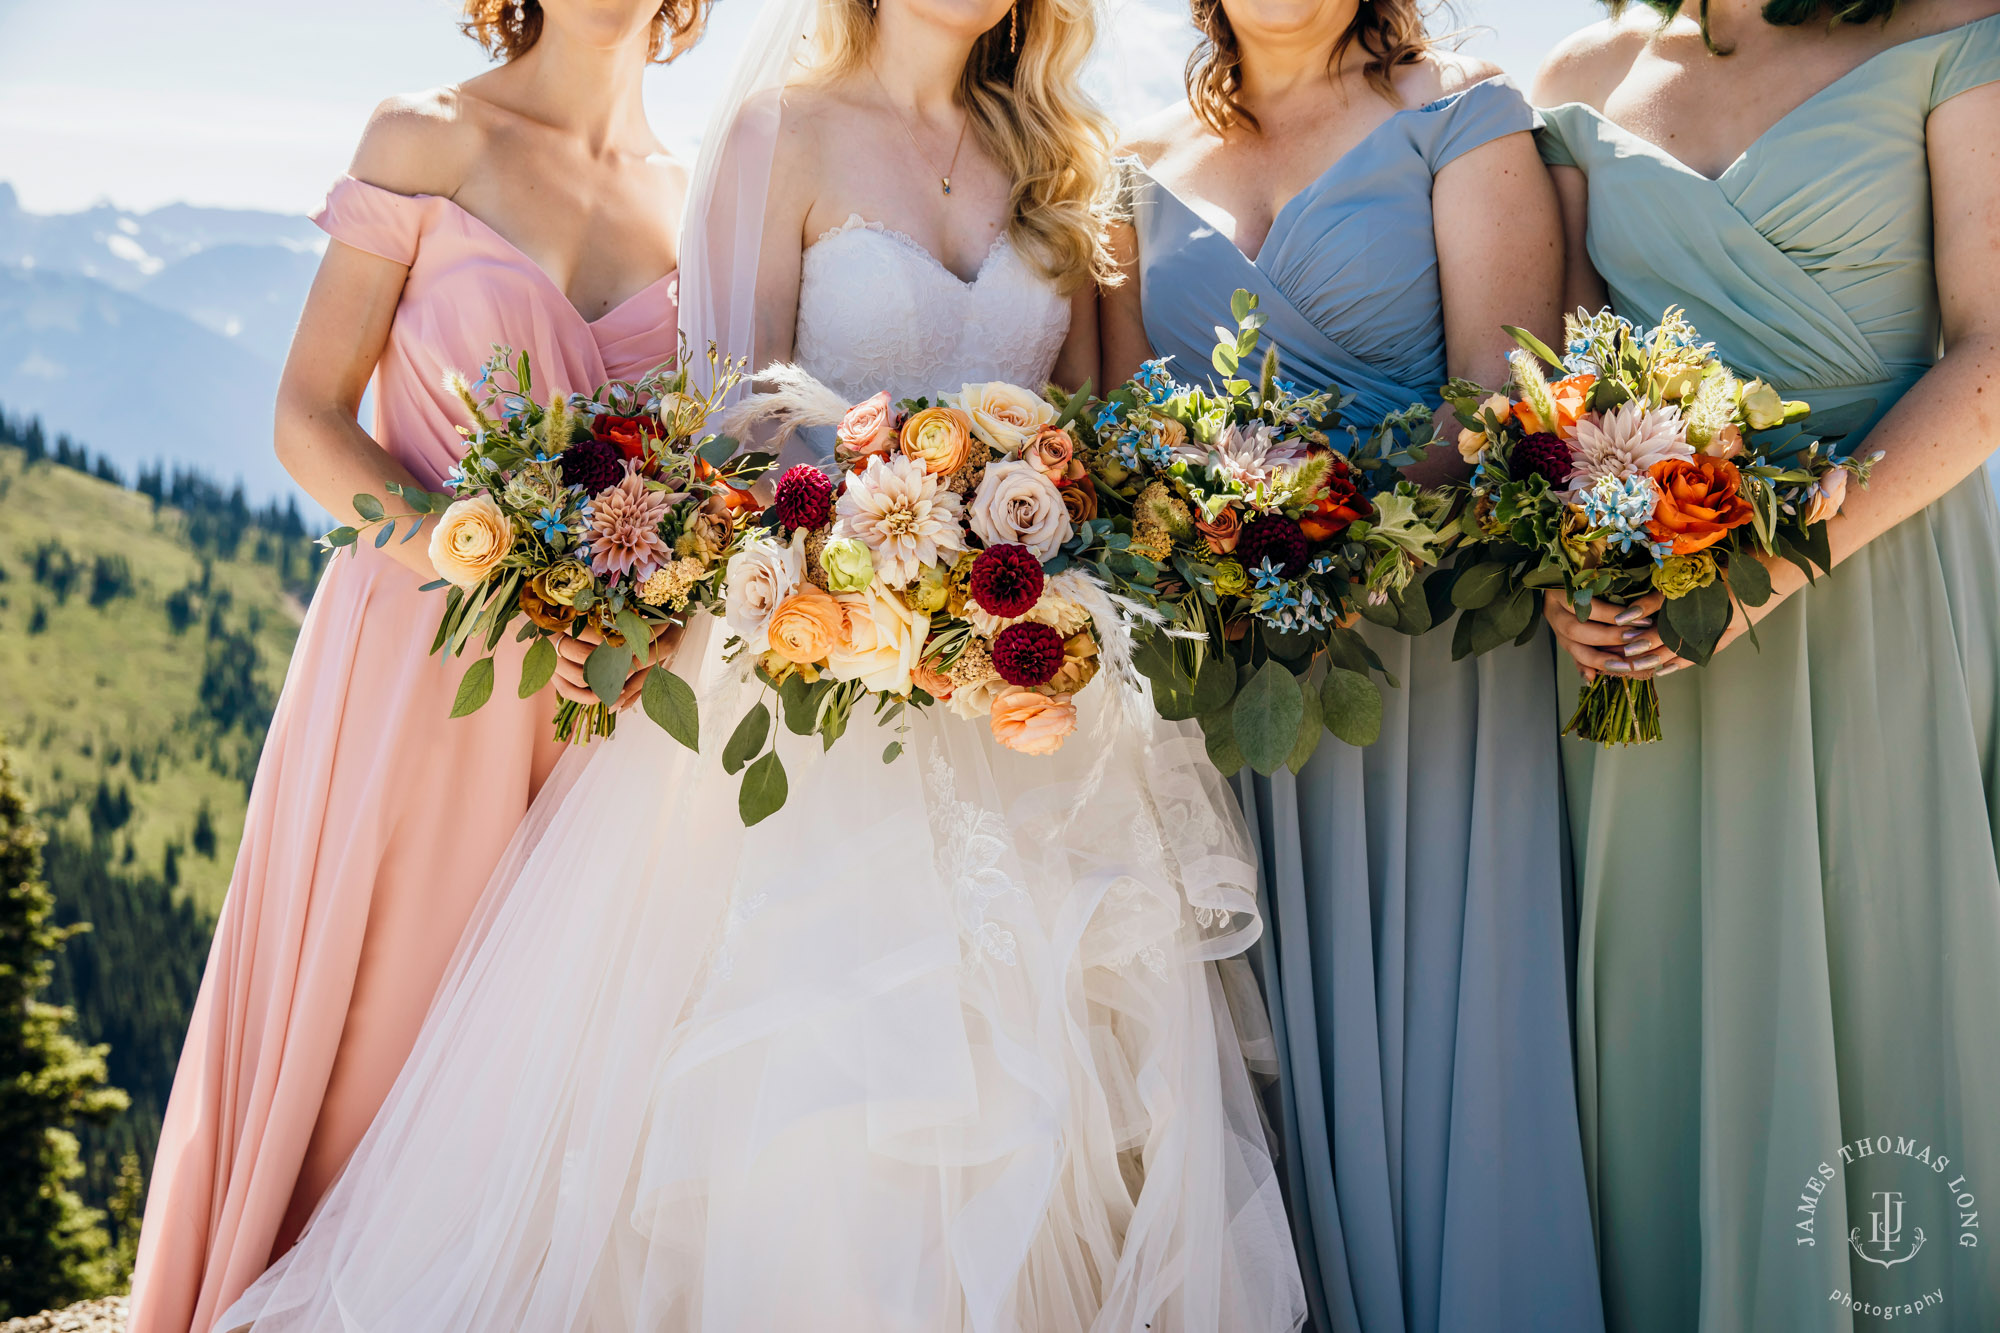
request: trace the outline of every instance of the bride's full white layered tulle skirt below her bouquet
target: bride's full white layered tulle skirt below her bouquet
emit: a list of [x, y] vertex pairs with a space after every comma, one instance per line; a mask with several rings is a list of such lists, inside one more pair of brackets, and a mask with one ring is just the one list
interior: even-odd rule
[[758, 687], [704, 638], [704, 751], [632, 717], [564, 763], [218, 1329], [1296, 1329], [1232, 1019], [1256, 873], [1200, 741], [1112, 679], [1052, 759], [948, 715], [784, 735], [744, 831]]

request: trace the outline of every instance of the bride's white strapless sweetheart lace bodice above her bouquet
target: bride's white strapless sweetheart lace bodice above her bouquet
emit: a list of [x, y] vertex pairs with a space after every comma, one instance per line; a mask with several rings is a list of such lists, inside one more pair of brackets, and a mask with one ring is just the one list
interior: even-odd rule
[[798, 364], [828, 388], [892, 398], [1008, 380], [1042, 388], [1070, 302], [1000, 236], [966, 282], [910, 236], [850, 216], [806, 248]]

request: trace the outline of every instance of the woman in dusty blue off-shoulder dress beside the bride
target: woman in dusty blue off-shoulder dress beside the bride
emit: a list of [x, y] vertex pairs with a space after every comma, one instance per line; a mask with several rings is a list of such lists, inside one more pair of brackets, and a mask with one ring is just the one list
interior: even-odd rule
[[[1408, 0], [1322, 0], [1310, 32], [1268, 10], [1196, 4], [1190, 104], [1132, 136], [1106, 382], [1148, 354], [1206, 376], [1236, 288], [1284, 376], [1356, 394], [1356, 424], [1448, 374], [1498, 382], [1502, 322], [1556, 324], [1534, 112], [1430, 50]], [[1314, 1325], [1590, 1333], [1550, 644], [1454, 662], [1450, 632], [1364, 632], [1400, 681], [1382, 739], [1328, 737], [1296, 779], [1238, 785]]]

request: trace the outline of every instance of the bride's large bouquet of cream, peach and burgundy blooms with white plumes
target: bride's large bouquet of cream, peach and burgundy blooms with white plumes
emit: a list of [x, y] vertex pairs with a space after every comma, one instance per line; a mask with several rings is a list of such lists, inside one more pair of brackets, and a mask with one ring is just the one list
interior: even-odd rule
[[992, 382], [850, 406], [792, 366], [758, 378], [774, 392], [732, 420], [838, 422], [838, 448], [832, 470], [786, 468], [728, 556], [728, 650], [766, 687], [722, 757], [744, 823], [786, 799], [774, 711], [828, 749], [872, 703], [904, 735], [910, 709], [944, 705], [1012, 751], [1058, 751], [1106, 650], [1130, 658], [1128, 608], [1086, 568], [1114, 538], [1090, 516], [1084, 400]]

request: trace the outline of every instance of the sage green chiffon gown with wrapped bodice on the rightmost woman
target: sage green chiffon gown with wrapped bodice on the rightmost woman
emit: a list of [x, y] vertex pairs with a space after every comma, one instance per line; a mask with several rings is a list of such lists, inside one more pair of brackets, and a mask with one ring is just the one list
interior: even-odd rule
[[[1876, 54], [1716, 178], [1580, 104], [1544, 110], [1542, 156], [1588, 180], [1620, 314], [1684, 306], [1852, 452], [1940, 356], [1930, 114], [1996, 80], [2000, 16]], [[1894, 1125], [2000, 1177], [1996, 671], [2000, 514], [1976, 472], [1770, 608], [1754, 644], [1664, 679], [1660, 743], [1570, 743], [1614, 1329], [1872, 1327], [1848, 1311], [1920, 1293], [1942, 1301], [1926, 1325], [2000, 1327], [2000, 1265], [1952, 1235], [1928, 1173], [1838, 1147]], [[1912, 1191], [1922, 1253], [1844, 1243], [1884, 1191]]]

